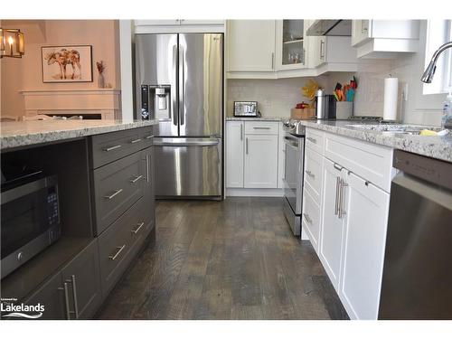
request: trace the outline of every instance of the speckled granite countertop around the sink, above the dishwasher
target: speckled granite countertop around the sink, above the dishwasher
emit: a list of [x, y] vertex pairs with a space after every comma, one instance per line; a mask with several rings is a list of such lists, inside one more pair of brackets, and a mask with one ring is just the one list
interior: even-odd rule
[[[350, 127], [350, 125], [371, 125], [345, 120], [301, 120], [306, 127], [321, 129], [344, 137], [353, 137], [373, 144], [389, 146], [402, 151], [426, 155], [452, 162], [452, 134], [445, 137], [423, 137], [417, 135], [381, 132], [378, 130]], [[348, 125], [348, 126], [347, 126]], [[411, 124], [400, 124], [409, 125]], [[416, 126], [428, 129], [428, 126]]]

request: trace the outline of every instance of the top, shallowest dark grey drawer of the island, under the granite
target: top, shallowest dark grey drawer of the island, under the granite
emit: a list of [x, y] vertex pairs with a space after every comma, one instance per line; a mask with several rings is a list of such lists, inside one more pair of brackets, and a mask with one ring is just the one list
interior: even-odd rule
[[127, 129], [90, 137], [91, 168], [98, 168], [145, 148], [147, 139], [144, 129]]

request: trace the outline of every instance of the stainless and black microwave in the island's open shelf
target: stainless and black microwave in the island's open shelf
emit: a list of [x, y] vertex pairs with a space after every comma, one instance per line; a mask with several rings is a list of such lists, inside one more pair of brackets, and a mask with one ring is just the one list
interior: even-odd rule
[[1, 278], [5, 278], [60, 238], [57, 176], [2, 184], [1, 211]]

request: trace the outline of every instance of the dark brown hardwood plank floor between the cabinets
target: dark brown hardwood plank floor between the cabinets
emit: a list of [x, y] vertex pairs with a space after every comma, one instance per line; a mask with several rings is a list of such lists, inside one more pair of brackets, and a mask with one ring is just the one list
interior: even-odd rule
[[282, 198], [160, 201], [156, 240], [111, 292], [99, 319], [346, 319]]

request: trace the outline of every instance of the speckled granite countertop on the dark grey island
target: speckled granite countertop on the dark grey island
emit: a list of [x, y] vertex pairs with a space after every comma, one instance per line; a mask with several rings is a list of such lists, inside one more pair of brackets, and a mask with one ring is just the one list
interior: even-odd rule
[[37, 120], [0, 124], [1, 149], [155, 125], [155, 120]]

